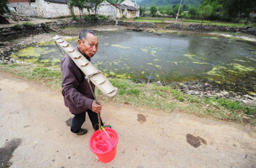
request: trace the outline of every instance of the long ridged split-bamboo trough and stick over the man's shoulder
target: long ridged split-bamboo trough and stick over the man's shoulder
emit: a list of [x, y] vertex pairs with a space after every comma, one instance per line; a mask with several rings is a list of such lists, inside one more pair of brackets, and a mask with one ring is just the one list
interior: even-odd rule
[[[86, 75], [87, 80], [90, 80], [97, 88], [99, 88], [99, 90], [105, 97], [113, 98], [117, 95], [118, 89], [113, 87], [113, 85], [102, 74], [102, 72], [99, 71], [92, 63], [90, 63], [90, 61], [88, 61], [79, 51], [76, 50], [76, 48], [74, 48], [70, 43], [68, 43], [57, 34], [52, 38], [54, 39], [55, 43], [58, 44], [58, 46], [60, 46], [74, 61], [74, 63], [81, 69], [81, 71]], [[94, 92], [93, 96], [96, 99]], [[98, 100], [96, 100], [96, 103], [99, 104]], [[100, 114], [98, 114], [98, 120], [99, 129], [101, 130]]]

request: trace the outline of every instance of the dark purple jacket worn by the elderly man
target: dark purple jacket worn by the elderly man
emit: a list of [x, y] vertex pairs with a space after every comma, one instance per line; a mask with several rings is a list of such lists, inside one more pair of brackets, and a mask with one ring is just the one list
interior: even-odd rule
[[[81, 53], [77, 46], [76, 50]], [[90, 61], [90, 57], [84, 57]], [[61, 61], [61, 73], [62, 95], [64, 97], [64, 104], [69, 108], [69, 111], [73, 114], [79, 114], [87, 109], [91, 110], [94, 98], [89, 83], [84, 78], [85, 74], [67, 54], [65, 54]], [[91, 85], [94, 91], [93, 83]]]

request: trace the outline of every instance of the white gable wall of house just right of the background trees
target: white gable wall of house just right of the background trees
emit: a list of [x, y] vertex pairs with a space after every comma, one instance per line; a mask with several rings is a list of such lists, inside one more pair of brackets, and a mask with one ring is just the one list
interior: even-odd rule
[[101, 4], [99, 4], [99, 9], [97, 12], [98, 14], [109, 16], [111, 19], [116, 19], [116, 7], [107, 1], [103, 1]]

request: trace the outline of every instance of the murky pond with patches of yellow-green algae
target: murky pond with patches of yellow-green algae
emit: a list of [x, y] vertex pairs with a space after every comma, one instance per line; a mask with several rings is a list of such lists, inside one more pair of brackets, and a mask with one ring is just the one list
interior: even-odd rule
[[[104, 31], [93, 65], [105, 76], [167, 82], [217, 80], [234, 83], [256, 71], [256, 46], [234, 38]], [[69, 41], [74, 47], [77, 39]], [[41, 66], [60, 67], [55, 43], [42, 43], [12, 54]]]

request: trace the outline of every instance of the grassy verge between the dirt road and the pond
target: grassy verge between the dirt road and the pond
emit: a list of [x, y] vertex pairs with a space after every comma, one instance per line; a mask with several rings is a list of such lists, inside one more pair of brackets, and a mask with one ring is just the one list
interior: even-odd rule
[[[50, 90], [61, 91], [60, 68], [48, 69], [33, 65], [4, 65], [0, 71], [46, 85]], [[227, 99], [199, 98], [183, 94], [169, 86], [138, 84], [136, 79], [109, 79], [119, 94], [112, 100], [101, 96], [104, 101], [131, 104], [138, 108], [149, 108], [165, 112], [182, 111], [201, 117], [256, 125], [256, 108], [244, 107], [239, 102]]]

